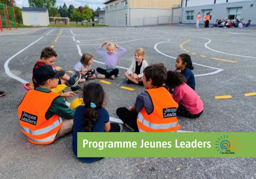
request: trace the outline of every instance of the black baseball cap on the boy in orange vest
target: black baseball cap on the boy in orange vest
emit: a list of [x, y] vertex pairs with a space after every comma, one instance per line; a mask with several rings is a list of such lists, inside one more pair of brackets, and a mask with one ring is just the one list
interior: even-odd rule
[[42, 65], [34, 72], [34, 78], [37, 83], [44, 82], [51, 78], [60, 78], [65, 75], [65, 71], [57, 71], [51, 65]]

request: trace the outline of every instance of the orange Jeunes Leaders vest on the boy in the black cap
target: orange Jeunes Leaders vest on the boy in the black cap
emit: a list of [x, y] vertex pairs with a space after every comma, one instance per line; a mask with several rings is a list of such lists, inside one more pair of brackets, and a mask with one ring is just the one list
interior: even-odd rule
[[62, 125], [62, 118], [57, 114], [46, 119], [45, 114], [52, 101], [58, 97], [55, 92], [29, 90], [20, 105], [18, 115], [21, 130], [26, 138], [35, 144], [50, 144], [55, 140]]

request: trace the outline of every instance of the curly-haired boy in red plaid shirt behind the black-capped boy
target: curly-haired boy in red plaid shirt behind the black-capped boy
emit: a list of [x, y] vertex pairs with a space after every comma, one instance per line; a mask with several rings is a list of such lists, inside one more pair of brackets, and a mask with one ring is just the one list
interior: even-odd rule
[[[32, 82], [34, 84], [34, 88], [39, 87], [38, 83], [35, 81], [34, 78], [34, 72], [35, 70], [42, 66], [42, 65], [51, 65], [55, 68], [55, 70], [59, 70], [54, 66], [54, 63], [56, 61], [57, 53], [55, 50], [53, 50], [51, 47], [45, 47], [40, 55], [40, 60], [36, 62], [34, 68], [33, 68], [33, 76], [32, 76]], [[77, 86], [79, 80], [81, 79], [81, 74], [77, 73], [74, 74], [72, 77], [68, 76], [67, 74], [64, 74], [59, 80], [60, 84], [66, 84], [67, 86], [71, 87], [71, 91], [73, 92], [80, 92], [81, 87]]]

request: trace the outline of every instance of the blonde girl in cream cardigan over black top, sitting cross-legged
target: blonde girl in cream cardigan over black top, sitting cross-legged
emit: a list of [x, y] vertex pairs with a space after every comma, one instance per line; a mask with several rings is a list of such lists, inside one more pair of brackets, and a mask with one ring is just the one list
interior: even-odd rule
[[145, 59], [145, 51], [143, 48], [138, 48], [134, 52], [135, 60], [132, 62], [130, 68], [125, 72], [124, 76], [127, 78], [127, 83], [135, 83], [143, 86], [143, 70], [148, 66]]

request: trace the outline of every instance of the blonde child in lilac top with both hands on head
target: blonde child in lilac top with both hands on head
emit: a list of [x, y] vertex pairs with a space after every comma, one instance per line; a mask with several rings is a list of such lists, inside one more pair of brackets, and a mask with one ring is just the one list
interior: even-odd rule
[[[106, 45], [107, 52], [102, 51], [102, 47]], [[120, 49], [120, 52], [115, 52], [115, 48]], [[119, 70], [116, 68], [117, 60], [119, 57], [124, 55], [126, 50], [122, 47], [119, 47], [113, 42], [105, 41], [97, 49], [97, 53], [104, 57], [104, 62], [106, 65], [106, 70], [102, 68], [97, 68], [96, 71], [102, 75], [98, 75], [98, 79], [111, 78], [112, 80], [115, 77], [119, 76]]]

